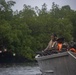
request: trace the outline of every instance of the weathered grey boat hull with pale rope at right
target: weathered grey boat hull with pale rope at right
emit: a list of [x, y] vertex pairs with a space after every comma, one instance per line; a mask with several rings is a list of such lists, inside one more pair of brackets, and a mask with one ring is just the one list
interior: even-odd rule
[[41, 75], [76, 75], [76, 53], [74, 52], [36, 55], [35, 59], [38, 61]]

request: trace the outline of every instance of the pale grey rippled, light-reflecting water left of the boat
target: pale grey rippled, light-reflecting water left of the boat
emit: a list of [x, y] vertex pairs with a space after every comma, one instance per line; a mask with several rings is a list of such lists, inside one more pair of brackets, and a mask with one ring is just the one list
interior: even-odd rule
[[40, 68], [34, 65], [14, 65], [0, 68], [0, 75], [36, 75], [39, 73], [41, 73]]

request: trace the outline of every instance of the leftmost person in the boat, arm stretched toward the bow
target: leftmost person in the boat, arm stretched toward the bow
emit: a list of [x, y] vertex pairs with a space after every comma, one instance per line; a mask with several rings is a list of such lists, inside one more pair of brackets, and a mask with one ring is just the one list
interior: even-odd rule
[[56, 48], [57, 48], [57, 35], [54, 33], [51, 35], [51, 40], [48, 43], [48, 46], [40, 53], [40, 55], [50, 55], [54, 52], [56, 52]]

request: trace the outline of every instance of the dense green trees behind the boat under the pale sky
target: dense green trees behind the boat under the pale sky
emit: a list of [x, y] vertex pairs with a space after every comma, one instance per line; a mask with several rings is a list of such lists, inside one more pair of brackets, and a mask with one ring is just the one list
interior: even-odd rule
[[6, 48], [33, 59], [37, 51], [47, 46], [54, 32], [66, 41], [76, 38], [76, 11], [69, 5], [59, 8], [52, 3], [48, 10], [45, 3], [41, 9], [24, 4], [21, 11], [13, 11], [14, 4], [0, 0], [0, 50]]

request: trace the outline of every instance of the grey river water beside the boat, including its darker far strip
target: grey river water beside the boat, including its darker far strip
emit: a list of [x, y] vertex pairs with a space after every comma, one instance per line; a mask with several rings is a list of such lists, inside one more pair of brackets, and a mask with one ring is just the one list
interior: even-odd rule
[[0, 75], [37, 75], [41, 73], [35, 63], [0, 64]]

